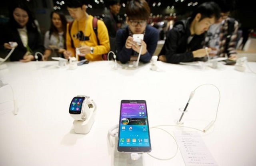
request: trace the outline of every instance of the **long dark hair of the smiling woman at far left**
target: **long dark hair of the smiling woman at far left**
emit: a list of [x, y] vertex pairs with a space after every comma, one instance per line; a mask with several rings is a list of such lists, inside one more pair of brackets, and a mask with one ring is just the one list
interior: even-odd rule
[[37, 31], [37, 26], [34, 22], [34, 20], [35, 20], [34, 15], [33, 15], [32, 11], [30, 10], [30, 8], [28, 8], [28, 6], [23, 1], [16, 1], [16, 2], [10, 4], [9, 22], [8, 22], [10, 27], [11, 28], [23, 28], [23, 27], [20, 27], [20, 24], [18, 24], [18, 22], [16, 22], [16, 20], [14, 19], [13, 12], [16, 8], [20, 8], [27, 12], [27, 14], [28, 14], [28, 22], [26, 24], [27, 30], [36, 30]]

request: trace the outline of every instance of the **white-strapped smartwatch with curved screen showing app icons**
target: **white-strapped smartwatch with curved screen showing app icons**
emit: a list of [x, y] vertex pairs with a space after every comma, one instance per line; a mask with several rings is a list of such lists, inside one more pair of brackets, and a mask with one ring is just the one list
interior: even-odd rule
[[76, 121], [85, 121], [90, 116], [90, 109], [94, 110], [94, 103], [90, 100], [90, 97], [77, 95], [70, 103], [69, 114]]

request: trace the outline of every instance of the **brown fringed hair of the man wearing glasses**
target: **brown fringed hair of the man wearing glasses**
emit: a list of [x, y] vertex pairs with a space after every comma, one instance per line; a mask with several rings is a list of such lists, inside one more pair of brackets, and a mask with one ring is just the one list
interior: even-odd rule
[[126, 15], [129, 20], [148, 20], [150, 7], [146, 0], [130, 0], [126, 5]]

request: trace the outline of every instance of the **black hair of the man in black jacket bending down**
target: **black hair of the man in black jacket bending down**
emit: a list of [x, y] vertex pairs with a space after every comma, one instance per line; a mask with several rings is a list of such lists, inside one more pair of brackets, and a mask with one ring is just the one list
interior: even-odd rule
[[196, 14], [198, 13], [201, 14], [200, 20], [213, 17], [215, 17], [215, 20], [218, 20], [220, 18], [220, 7], [215, 2], [204, 2], [200, 4], [196, 8], [196, 10], [194, 10], [191, 15], [192, 20], [196, 17]]

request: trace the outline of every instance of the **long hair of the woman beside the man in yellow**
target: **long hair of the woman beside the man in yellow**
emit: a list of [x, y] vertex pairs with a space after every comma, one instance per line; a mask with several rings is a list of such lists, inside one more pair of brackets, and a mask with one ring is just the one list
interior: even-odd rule
[[64, 37], [64, 41], [66, 41], [67, 20], [66, 20], [66, 17], [64, 15], [64, 13], [61, 12], [61, 11], [58, 11], [58, 10], [54, 10], [50, 14], [51, 25], [50, 25], [50, 29], [49, 29], [49, 39], [50, 39], [52, 34], [58, 36], [58, 30], [54, 26], [54, 24], [52, 23], [52, 16], [53, 16], [54, 13], [56, 13], [56, 14], [58, 14], [60, 16], [60, 21], [62, 23], [62, 30], [64, 32], [63, 37]]

